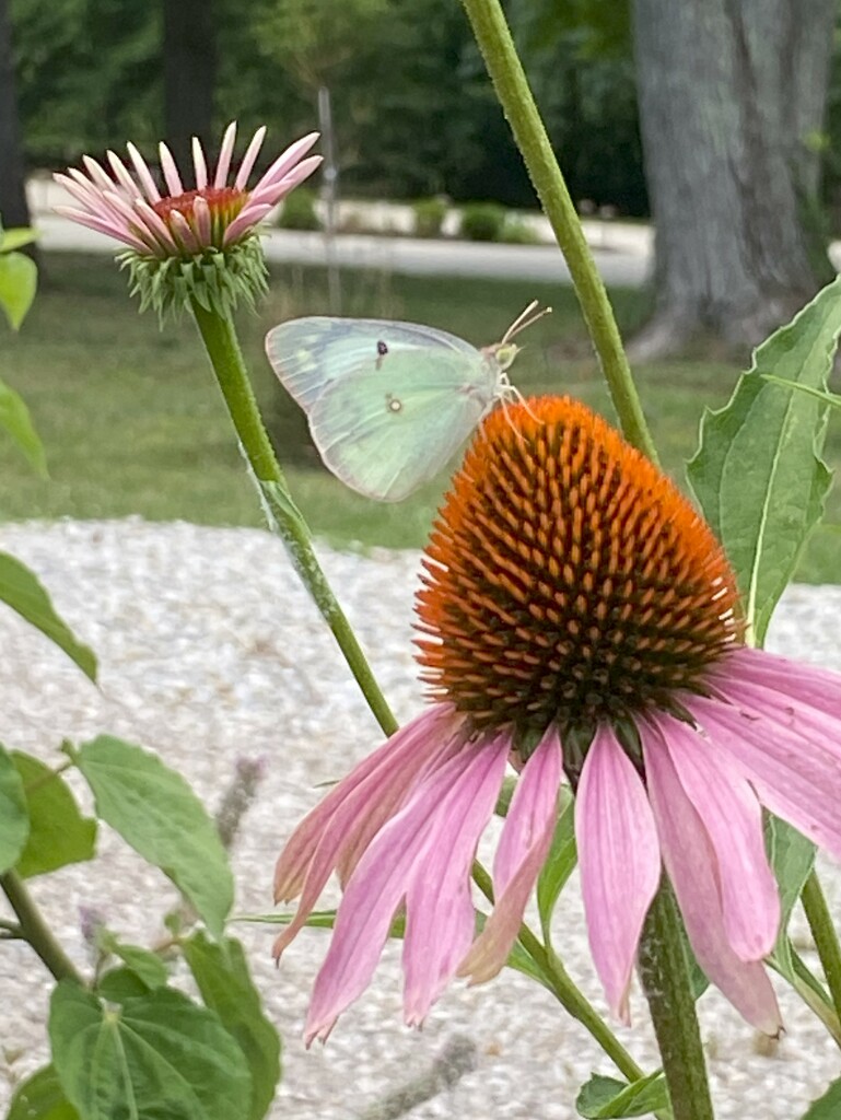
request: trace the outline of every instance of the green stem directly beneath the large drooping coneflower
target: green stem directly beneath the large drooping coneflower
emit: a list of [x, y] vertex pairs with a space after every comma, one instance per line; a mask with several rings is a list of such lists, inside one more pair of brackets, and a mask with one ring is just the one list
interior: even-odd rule
[[638, 968], [663, 1060], [674, 1120], [712, 1120], [712, 1101], [680, 915], [665, 877], [645, 920]]

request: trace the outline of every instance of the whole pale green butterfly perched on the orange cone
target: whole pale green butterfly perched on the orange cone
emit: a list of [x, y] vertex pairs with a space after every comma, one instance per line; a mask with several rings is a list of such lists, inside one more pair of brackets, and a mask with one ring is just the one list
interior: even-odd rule
[[308, 316], [273, 327], [265, 352], [325, 466], [366, 497], [401, 502], [497, 402], [518, 399], [512, 339], [550, 310], [535, 300], [480, 349], [415, 323]]

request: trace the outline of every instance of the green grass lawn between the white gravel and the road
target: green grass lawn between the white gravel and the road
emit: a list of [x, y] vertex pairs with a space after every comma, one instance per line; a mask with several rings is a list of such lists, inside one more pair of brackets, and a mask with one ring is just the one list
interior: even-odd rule
[[[531, 299], [554, 314], [521, 339], [514, 366], [524, 393], [568, 392], [613, 419], [571, 290], [525, 281], [346, 273], [347, 315], [405, 318], [452, 330], [476, 344], [495, 342]], [[620, 326], [645, 314], [637, 291], [613, 293]], [[240, 316], [246, 361], [296, 501], [314, 531], [335, 544], [419, 547], [446, 478], [400, 505], [368, 502], [319, 466], [306, 422], [275, 382], [262, 339], [274, 323], [325, 312], [319, 270], [277, 272], [260, 315]], [[0, 377], [27, 400], [44, 439], [49, 482], [35, 477], [0, 440], [0, 517], [184, 519], [209, 525], [256, 525], [261, 516], [223, 404], [188, 319], [160, 330], [138, 315], [125, 277], [109, 256], [56, 254], [19, 336], [0, 325]], [[738, 367], [707, 357], [642, 366], [641, 394], [663, 463], [682, 482], [703, 404], [722, 404]], [[841, 428], [826, 458], [841, 464]], [[841, 496], [831, 496], [841, 521]], [[841, 580], [839, 536], [810, 542], [800, 578]]]

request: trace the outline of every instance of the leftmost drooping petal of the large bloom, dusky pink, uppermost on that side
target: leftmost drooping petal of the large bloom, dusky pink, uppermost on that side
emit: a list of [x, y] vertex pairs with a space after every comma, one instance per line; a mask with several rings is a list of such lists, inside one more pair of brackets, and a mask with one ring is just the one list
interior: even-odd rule
[[357, 787], [368, 783], [371, 790], [367, 813], [373, 836], [393, 812], [393, 804], [384, 805], [385, 792], [394, 793], [402, 786], [402, 796], [405, 796], [430, 754], [451, 739], [458, 726], [451, 706], [434, 704], [363, 758], [303, 818], [287, 841], [274, 870], [274, 902], [290, 902], [301, 893], [309, 864], [323, 834], [329, 830], [334, 813]]

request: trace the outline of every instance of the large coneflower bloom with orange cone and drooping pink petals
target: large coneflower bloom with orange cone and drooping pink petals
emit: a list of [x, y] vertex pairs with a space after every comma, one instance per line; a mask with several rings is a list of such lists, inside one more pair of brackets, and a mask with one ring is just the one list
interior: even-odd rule
[[[779, 924], [761, 806], [841, 858], [841, 678], [742, 644], [736, 582], [703, 520], [567, 398], [484, 422], [440, 513], [418, 595], [433, 703], [302, 821], [275, 897], [306, 922], [344, 896], [306, 1026], [325, 1039], [405, 913], [404, 1012], [504, 965], [566, 774], [587, 925], [608, 1002], [628, 987], [665, 868], [709, 979], [775, 1034], [761, 964]], [[476, 933], [470, 867], [506, 765], [521, 776]]]

